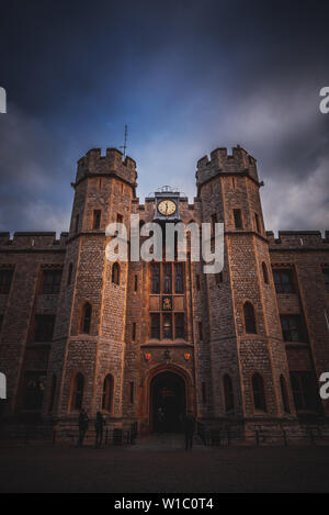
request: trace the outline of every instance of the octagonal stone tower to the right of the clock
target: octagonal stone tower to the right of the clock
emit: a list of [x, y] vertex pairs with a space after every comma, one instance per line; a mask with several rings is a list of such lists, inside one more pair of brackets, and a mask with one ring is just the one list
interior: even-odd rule
[[213, 416], [283, 416], [282, 382], [293, 400], [256, 159], [217, 148], [197, 163], [196, 184], [203, 221], [225, 224], [223, 273], [206, 277]]

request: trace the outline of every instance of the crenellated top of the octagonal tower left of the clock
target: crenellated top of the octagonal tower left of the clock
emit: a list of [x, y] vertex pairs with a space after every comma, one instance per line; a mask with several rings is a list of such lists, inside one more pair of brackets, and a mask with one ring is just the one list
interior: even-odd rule
[[77, 182], [86, 175], [115, 173], [132, 186], [136, 186], [136, 163], [131, 157], [123, 158], [123, 153], [117, 148], [106, 148], [102, 155], [101, 148], [91, 148], [78, 160]]

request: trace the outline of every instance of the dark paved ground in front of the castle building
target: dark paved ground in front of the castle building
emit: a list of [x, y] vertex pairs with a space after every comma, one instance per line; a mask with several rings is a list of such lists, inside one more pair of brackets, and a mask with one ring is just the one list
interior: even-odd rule
[[105, 449], [0, 448], [0, 492], [329, 492], [329, 447], [182, 449], [181, 437]]

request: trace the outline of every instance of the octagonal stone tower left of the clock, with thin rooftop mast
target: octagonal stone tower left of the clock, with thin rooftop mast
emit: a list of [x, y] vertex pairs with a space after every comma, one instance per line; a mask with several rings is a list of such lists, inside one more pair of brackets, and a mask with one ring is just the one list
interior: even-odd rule
[[49, 367], [60, 382], [55, 413], [61, 418], [81, 404], [92, 416], [103, 410], [122, 417], [128, 270], [127, 262], [106, 260], [105, 227], [129, 227], [136, 178], [135, 161], [115, 148], [105, 156], [91, 149], [78, 161]]

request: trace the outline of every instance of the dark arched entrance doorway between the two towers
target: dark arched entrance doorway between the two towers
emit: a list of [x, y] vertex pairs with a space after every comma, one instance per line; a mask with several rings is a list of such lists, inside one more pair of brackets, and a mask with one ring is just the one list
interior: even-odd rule
[[[182, 377], [173, 372], [160, 372], [150, 383], [151, 430], [178, 433], [182, 430], [186, 394]], [[159, 408], [163, 416], [159, 415]]]

